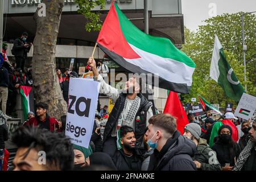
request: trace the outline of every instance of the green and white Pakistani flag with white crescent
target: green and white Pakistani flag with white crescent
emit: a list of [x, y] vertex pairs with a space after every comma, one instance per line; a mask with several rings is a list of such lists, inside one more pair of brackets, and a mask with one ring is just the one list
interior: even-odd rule
[[222, 89], [224, 89], [226, 96], [234, 101], [240, 101], [242, 94], [245, 93], [240, 81], [226, 60], [224, 50], [217, 35], [215, 35], [212, 62], [210, 63], [210, 77], [218, 82]]

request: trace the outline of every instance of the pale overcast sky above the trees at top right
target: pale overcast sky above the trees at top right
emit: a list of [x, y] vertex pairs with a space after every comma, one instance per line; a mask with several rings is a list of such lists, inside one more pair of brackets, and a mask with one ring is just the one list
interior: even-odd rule
[[184, 26], [196, 31], [202, 20], [214, 14], [256, 11], [256, 0], [181, 0], [181, 7]]

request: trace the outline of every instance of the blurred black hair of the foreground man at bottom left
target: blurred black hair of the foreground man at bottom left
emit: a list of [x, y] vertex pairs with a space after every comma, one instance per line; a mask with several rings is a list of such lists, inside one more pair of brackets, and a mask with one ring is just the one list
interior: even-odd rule
[[39, 127], [20, 126], [14, 131], [11, 140], [18, 148], [28, 147], [24, 158], [34, 148], [37, 151], [46, 152], [49, 169], [51, 166], [61, 171], [73, 168], [73, 145], [63, 133], [53, 133]]

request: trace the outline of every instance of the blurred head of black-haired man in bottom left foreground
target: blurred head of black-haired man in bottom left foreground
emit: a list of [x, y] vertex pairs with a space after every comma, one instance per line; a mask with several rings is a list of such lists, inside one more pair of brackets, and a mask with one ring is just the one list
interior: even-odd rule
[[73, 169], [73, 146], [63, 133], [21, 126], [14, 132], [12, 141], [18, 147], [13, 160], [14, 171]]

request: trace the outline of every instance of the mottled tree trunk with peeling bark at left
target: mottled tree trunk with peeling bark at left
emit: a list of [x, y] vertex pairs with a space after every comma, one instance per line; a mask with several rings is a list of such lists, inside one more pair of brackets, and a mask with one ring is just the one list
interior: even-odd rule
[[40, 17], [39, 9], [34, 14], [36, 36], [32, 57], [32, 77], [35, 99], [36, 103], [48, 104], [48, 114], [60, 119], [61, 115], [67, 113], [67, 104], [56, 76], [55, 51], [64, 0], [43, 0], [42, 3], [46, 5], [46, 16]]

